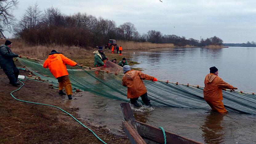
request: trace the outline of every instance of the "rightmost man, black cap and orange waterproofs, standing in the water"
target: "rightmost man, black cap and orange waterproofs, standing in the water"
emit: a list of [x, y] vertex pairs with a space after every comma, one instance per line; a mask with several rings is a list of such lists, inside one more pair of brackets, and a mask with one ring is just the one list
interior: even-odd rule
[[230, 89], [234, 91], [237, 88], [218, 77], [218, 69], [215, 66], [210, 67], [210, 74], [206, 75], [204, 84], [204, 99], [210, 105], [212, 111], [227, 113], [222, 102], [222, 90]]

